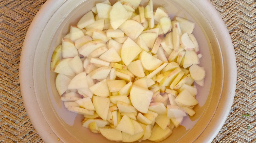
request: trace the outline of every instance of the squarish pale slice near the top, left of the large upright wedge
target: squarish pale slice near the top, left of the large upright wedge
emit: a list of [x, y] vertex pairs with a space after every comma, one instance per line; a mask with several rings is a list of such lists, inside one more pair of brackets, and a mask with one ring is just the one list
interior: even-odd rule
[[109, 18], [109, 12], [112, 9], [111, 5], [104, 4], [104, 3], [97, 3], [97, 14], [99, 19]]

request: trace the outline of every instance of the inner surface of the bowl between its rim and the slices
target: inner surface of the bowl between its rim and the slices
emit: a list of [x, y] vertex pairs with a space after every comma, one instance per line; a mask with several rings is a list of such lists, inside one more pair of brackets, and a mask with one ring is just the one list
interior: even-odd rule
[[[83, 119], [82, 115], [77, 115], [73, 112], [69, 112], [65, 107], [63, 102], [60, 100], [60, 96], [58, 95], [55, 88], [55, 77], [56, 74], [50, 72], [50, 60], [54, 48], [61, 43], [61, 39], [69, 32], [70, 25], [74, 25], [77, 21], [87, 12], [95, 6], [96, 3], [100, 1], [80, 1], [81, 4], [77, 4], [79, 6], [75, 7], [71, 1], [67, 1], [63, 4], [62, 7], [70, 8], [66, 13], [60, 12], [59, 9], [53, 15], [52, 19], [58, 17], [58, 12], [67, 15], [63, 19], [50, 20], [49, 24], [45, 29], [52, 26], [53, 35], [48, 35], [50, 40], [43, 40], [44, 37], [42, 35], [41, 42], [49, 43], [49, 48], [37, 48], [37, 53], [45, 53], [41, 54], [42, 57], [46, 58], [42, 60], [42, 58], [35, 59], [35, 87], [37, 88], [37, 95], [42, 95], [44, 93], [45, 97], [39, 96], [38, 102], [42, 107], [42, 112], [45, 115], [46, 120], [49, 125], [55, 131], [55, 133], [60, 136], [60, 139], [68, 142], [74, 141], [73, 137], [76, 138], [76, 141], [83, 142], [85, 140], [94, 140], [100, 141], [104, 140], [104, 142], [108, 142], [104, 137], [100, 134], [93, 134], [88, 129], [81, 127], [81, 120]], [[145, 4], [147, 0], [142, 1]], [[179, 0], [174, 0], [175, 7], [168, 0], [162, 1], [154, 1], [154, 7], [164, 6], [170, 14], [170, 17], [173, 18], [175, 15], [187, 18], [195, 23], [197, 23], [195, 32], [193, 33], [200, 45], [200, 53], [203, 57], [200, 59], [200, 66], [204, 67], [206, 70], [206, 78], [205, 78], [205, 87], [198, 87], [198, 95], [197, 99], [199, 100], [199, 105], [197, 105], [194, 109], [196, 114], [193, 117], [186, 117], [179, 128], [174, 129], [173, 134], [164, 142], [172, 141], [172, 142], [184, 142], [191, 141], [191, 139], [195, 139], [203, 129], [208, 124], [212, 115], [214, 114], [215, 108], [217, 106], [221, 87], [222, 86], [214, 86], [214, 85], [222, 85], [222, 62], [221, 62], [221, 54], [218, 45], [218, 41], [216, 40], [216, 36], [212, 31], [210, 24], [207, 22], [206, 18], [203, 18], [203, 14], [197, 9], [195, 5], [191, 2], [180, 2]], [[73, 6], [73, 9], [72, 9]], [[177, 8], [178, 7], [178, 8]], [[186, 10], [184, 10], [186, 9]], [[189, 13], [189, 14], [188, 14]], [[58, 23], [56, 23], [58, 21]], [[57, 30], [56, 30], [57, 29]], [[56, 31], [55, 31], [56, 30]], [[46, 35], [44, 35], [46, 36]], [[51, 37], [53, 37], [51, 39]], [[40, 42], [39, 42], [40, 45]], [[43, 59], [44, 59], [43, 58]], [[44, 65], [44, 66], [42, 66]], [[216, 70], [215, 67], [219, 67]], [[42, 73], [37, 71], [45, 71], [42, 76]], [[216, 76], [218, 75], [218, 76]], [[214, 79], [214, 80], [212, 80]], [[36, 85], [39, 81], [46, 80], [47, 83], [45, 85]], [[38, 81], [38, 82], [36, 82]], [[214, 91], [214, 92], [213, 92]], [[212, 98], [214, 96], [214, 98]], [[211, 108], [208, 108], [208, 107]], [[207, 110], [207, 114], [206, 111]], [[202, 120], [203, 119], [203, 120]], [[193, 128], [192, 128], [193, 127]], [[188, 131], [190, 131], [188, 133]], [[188, 134], [186, 134], [188, 133]], [[87, 136], [87, 135], [88, 136]]]

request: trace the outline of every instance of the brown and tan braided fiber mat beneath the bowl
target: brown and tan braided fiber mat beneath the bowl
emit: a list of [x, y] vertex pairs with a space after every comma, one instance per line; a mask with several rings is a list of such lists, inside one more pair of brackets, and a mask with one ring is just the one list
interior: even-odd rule
[[[21, 99], [19, 60], [29, 25], [45, 1], [0, 0], [0, 142], [43, 142], [33, 128]], [[227, 26], [237, 62], [237, 86], [230, 115], [212, 142], [255, 143], [256, 2], [211, 2]]]

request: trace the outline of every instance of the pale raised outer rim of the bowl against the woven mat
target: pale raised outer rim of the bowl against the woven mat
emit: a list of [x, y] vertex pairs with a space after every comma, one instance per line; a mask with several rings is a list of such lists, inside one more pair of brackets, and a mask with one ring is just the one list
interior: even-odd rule
[[[27, 76], [33, 74], [33, 56], [34, 50], [38, 40], [40, 39], [40, 34], [44, 30], [45, 25], [48, 20], [54, 14], [54, 12], [61, 7], [63, 3], [68, 0], [48, 0], [44, 3], [42, 8], [38, 11], [34, 17], [24, 40], [22, 47], [21, 58], [20, 58], [20, 88], [21, 95], [24, 106], [26, 108], [27, 114], [30, 117], [32, 125], [36, 129], [37, 133], [42, 137], [45, 142], [59, 142], [58, 136], [54, 133], [52, 128], [48, 125], [41, 113], [40, 105], [37, 103], [37, 99], [34, 91], [34, 81], [33, 76]], [[223, 54], [223, 64], [224, 64], [224, 87], [220, 99], [225, 102], [219, 102], [219, 105], [209, 122], [208, 126], [204, 129], [203, 133], [196, 139], [195, 142], [210, 142], [220, 131], [222, 125], [224, 124], [229, 110], [233, 103], [233, 98], [235, 95], [236, 88], [236, 59], [235, 52], [232, 49], [233, 43], [231, 41], [230, 35], [226, 29], [226, 25], [223, 19], [219, 15], [218, 11], [214, 8], [208, 0], [194, 0], [192, 1], [197, 7], [202, 8], [202, 11], [211, 11], [211, 13], [204, 13], [207, 20], [212, 24], [213, 30], [216, 35], [218, 35], [218, 40], [221, 43], [222, 54]], [[215, 27], [215, 28], [214, 28]], [[216, 28], [219, 27], [219, 28]], [[228, 38], [227, 38], [228, 37]], [[29, 96], [28, 96], [29, 95]], [[38, 124], [40, 122], [40, 124]], [[218, 122], [220, 125], [216, 126], [213, 122]], [[211, 136], [210, 136], [210, 135]]]

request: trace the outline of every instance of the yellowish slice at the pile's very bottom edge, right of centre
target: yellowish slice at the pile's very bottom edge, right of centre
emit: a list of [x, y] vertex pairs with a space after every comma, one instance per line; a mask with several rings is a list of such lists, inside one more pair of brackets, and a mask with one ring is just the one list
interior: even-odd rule
[[167, 137], [169, 137], [172, 134], [172, 130], [169, 128], [166, 128], [163, 130], [158, 124], [155, 124], [151, 136], [148, 140], [160, 142], [165, 140]]

